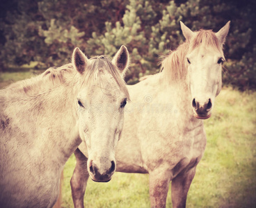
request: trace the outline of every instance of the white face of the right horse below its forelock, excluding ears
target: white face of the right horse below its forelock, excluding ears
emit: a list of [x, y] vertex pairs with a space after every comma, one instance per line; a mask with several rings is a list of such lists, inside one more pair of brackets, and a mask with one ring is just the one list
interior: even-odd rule
[[221, 70], [224, 60], [221, 53], [195, 49], [187, 56], [188, 80], [195, 117], [208, 119], [214, 99], [221, 91]]

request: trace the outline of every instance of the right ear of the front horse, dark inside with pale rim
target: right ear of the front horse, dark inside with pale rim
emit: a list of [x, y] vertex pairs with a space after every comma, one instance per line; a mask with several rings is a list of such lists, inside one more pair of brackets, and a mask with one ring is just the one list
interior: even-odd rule
[[113, 64], [115, 64], [115, 66], [118, 67], [120, 73], [124, 75], [129, 65], [129, 52], [127, 50], [127, 47], [122, 45], [118, 53], [115, 54], [112, 62]]

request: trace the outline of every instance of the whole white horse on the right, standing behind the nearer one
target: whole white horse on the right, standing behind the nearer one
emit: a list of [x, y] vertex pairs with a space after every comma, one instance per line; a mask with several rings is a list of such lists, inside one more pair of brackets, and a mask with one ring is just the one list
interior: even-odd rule
[[[230, 21], [218, 33], [192, 32], [181, 22], [186, 42], [162, 62], [162, 71], [129, 86], [131, 103], [115, 158], [116, 171], [150, 174], [151, 207], [165, 207], [171, 183], [173, 207], [186, 196], [206, 145], [203, 122], [221, 91], [223, 44]], [[74, 207], [83, 207], [88, 173], [86, 144], [76, 150], [72, 176]]]

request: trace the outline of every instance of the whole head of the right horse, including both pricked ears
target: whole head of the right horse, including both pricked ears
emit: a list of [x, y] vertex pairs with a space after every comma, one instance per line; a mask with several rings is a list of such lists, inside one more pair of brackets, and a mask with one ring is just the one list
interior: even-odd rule
[[192, 97], [191, 107], [198, 119], [208, 119], [211, 116], [215, 97], [221, 91], [221, 70], [225, 60], [222, 46], [229, 28], [230, 22], [218, 33], [211, 31], [193, 33], [182, 24], [182, 32], [190, 44], [186, 62]]

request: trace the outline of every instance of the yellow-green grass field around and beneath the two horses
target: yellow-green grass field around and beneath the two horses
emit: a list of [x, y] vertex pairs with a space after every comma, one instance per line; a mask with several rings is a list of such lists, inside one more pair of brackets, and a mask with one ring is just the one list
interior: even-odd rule
[[[31, 72], [0, 73], [0, 87]], [[207, 148], [191, 184], [187, 207], [256, 207], [256, 92], [224, 88], [205, 121]], [[64, 169], [62, 207], [73, 207], [70, 178], [74, 155]], [[108, 183], [88, 181], [85, 207], [150, 207], [148, 175], [115, 173]], [[170, 191], [167, 206], [171, 207]]]

